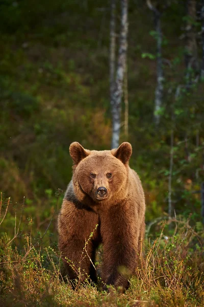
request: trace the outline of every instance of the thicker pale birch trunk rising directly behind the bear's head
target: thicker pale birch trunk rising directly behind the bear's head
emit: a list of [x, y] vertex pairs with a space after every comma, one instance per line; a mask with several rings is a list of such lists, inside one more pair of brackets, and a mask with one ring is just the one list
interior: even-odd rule
[[121, 118], [121, 98], [123, 90], [124, 65], [127, 51], [127, 0], [121, 0], [121, 28], [118, 47], [118, 61], [116, 77], [111, 97], [112, 105], [112, 148], [119, 146], [120, 118]]

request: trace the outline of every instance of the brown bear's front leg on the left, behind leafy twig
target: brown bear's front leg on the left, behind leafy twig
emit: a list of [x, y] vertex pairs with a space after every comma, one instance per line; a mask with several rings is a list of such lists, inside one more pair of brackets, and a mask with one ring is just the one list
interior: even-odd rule
[[[74, 203], [63, 201], [58, 217], [59, 249], [64, 266], [70, 279], [84, 281], [88, 276], [96, 281], [96, 272], [92, 265], [95, 256], [94, 230], [98, 222], [96, 213], [78, 209]], [[93, 236], [90, 237], [93, 232]]]

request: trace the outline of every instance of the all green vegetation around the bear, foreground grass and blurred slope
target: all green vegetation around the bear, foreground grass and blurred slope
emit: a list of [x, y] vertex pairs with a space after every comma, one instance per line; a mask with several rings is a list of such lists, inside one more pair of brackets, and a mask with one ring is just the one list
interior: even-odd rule
[[[185, 88], [183, 2], [172, 2], [161, 21], [165, 95], [155, 127], [152, 12], [142, 0], [130, 1], [128, 141], [147, 204], [142, 267], [124, 295], [88, 283], [73, 291], [60, 278], [56, 223], [63, 193], [58, 189], [65, 191], [71, 179], [72, 141], [110, 148], [109, 2], [0, 3], [0, 223], [11, 198], [0, 225], [0, 303], [5, 306], [202, 306], [204, 86], [199, 80]], [[199, 20], [195, 27], [199, 32]], [[199, 47], [200, 34], [197, 40]], [[124, 106], [122, 121], [123, 111]], [[123, 126], [120, 139], [126, 140]], [[176, 215], [168, 220], [170, 176]]]

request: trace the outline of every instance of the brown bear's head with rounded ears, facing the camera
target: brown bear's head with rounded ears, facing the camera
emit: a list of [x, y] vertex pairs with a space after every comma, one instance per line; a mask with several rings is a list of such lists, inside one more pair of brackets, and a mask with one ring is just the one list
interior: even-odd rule
[[122, 143], [117, 149], [88, 150], [78, 142], [71, 143], [73, 160], [73, 186], [80, 201], [89, 196], [93, 202], [101, 202], [125, 196], [129, 159], [132, 146]]

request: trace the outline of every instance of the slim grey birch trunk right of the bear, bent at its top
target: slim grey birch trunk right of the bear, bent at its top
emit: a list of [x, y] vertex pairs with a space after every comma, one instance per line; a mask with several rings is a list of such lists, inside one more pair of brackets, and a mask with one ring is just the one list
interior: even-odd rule
[[150, 0], [147, 0], [148, 8], [154, 13], [155, 30], [157, 37], [157, 86], [155, 90], [155, 109], [154, 109], [154, 119], [155, 123], [158, 125], [160, 123], [159, 110], [162, 106], [163, 93], [164, 93], [164, 74], [162, 65], [162, 29], [161, 29], [161, 13], [154, 7]]

